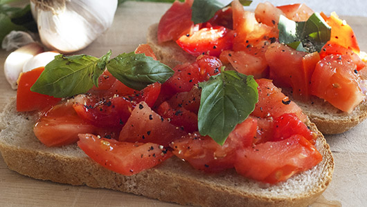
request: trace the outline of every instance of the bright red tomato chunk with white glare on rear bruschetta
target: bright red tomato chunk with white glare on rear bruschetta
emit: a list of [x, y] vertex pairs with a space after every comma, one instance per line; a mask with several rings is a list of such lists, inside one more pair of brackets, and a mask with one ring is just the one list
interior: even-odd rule
[[223, 50], [231, 50], [233, 31], [223, 26], [202, 28], [193, 34], [184, 34], [177, 39], [177, 44], [191, 55], [211, 55], [218, 57]]

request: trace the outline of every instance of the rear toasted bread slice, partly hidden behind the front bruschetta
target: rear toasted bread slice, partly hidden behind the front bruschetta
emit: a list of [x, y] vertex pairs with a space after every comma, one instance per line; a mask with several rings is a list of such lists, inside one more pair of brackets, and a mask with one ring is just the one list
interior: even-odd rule
[[[174, 41], [159, 44], [157, 40], [157, 29], [158, 24], [154, 24], [150, 26], [147, 33], [147, 43], [153, 49], [157, 59], [171, 68], [177, 64], [195, 61], [193, 55], [189, 55], [183, 51]], [[292, 99], [292, 92], [290, 90], [285, 89], [283, 93]], [[367, 117], [367, 101], [362, 101], [350, 113], [343, 112], [317, 97], [312, 97], [312, 100], [307, 102], [294, 101], [324, 135], [345, 132], [361, 123], [361, 121], [364, 121]]]

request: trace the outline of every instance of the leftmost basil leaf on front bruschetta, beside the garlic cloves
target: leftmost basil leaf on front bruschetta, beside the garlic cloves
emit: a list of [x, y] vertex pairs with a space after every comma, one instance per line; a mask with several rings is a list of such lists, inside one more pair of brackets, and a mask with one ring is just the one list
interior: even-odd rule
[[30, 90], [53, 97], [71, 97], [87, 92], [93, 87], [93, 74], [100, 70], [97, 63], [98, 58], [89, 55], [57, 55], [45, 66]]

